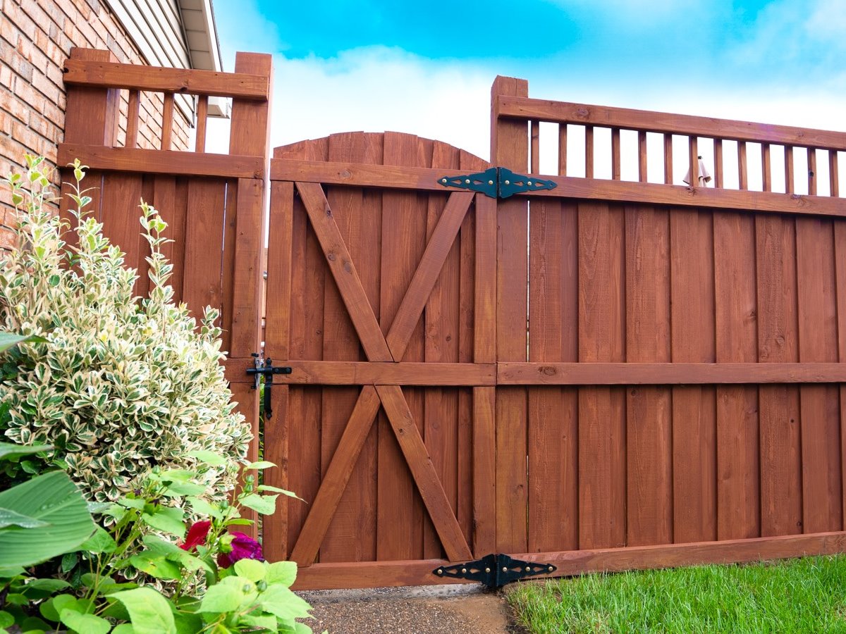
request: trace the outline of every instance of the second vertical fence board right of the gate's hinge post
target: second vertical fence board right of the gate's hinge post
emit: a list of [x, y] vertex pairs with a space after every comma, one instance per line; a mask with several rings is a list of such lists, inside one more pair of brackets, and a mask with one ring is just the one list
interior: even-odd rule
[[[624, 210], [579, 207], [579, 360], [624, 361]], [[579, 391], [579, 547], [626, 539], [625, 388]]]

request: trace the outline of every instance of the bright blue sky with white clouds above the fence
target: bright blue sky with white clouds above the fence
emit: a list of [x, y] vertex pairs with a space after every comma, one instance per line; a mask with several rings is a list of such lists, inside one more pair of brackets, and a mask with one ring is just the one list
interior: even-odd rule
[[846, 129], [846, 0], [216, 0], [224, 69], [275, 56], [274, 145], [393, 129], [487, 156], [490, 85]]

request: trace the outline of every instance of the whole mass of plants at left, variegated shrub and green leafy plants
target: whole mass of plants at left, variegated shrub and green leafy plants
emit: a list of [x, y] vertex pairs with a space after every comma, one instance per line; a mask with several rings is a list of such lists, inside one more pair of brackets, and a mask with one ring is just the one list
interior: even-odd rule
[[135, 298], [85, 215], [85, 167], [71, 246], [44, 161], [27, 164], [8, 178], [19, 246], [0, 265], [0, 634], [309, 632], [296, 565], [236, 530], [242, 507], [293, 494], [248, 474], [273, 465], [244, 460], [217, 314], [197, 331], [173, 303], [164, 222], [142, 203], [151, 292]]

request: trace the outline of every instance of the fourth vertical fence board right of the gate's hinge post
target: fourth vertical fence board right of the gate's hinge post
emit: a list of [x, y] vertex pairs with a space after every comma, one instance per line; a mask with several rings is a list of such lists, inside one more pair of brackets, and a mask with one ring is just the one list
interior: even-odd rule
[[[673, 363], [713, 363], [711, 213], [670, 210]], [[710, 385], [673, 387], [673, 542], [717, 538], [717, 412]]]

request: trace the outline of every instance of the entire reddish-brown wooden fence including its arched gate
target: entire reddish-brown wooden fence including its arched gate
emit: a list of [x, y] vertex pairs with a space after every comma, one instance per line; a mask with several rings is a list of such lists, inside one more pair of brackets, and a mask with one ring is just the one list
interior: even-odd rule
[[[267, 170], [266, 56], [223, 75], [99, 55], [69, 63], [61, 160], [95, 170], [118, 243], [137, 242], [135, 215], [112, 210], [138, 194], [172, 223], [182, 297], [222, 307], [256, 425], [268, 232], [264, 352], [292, 369], [268, 476], [308, 504], [285, 500], [264, 539], [299, 588], [442, 582], [445, 561], [491, 552], [560, 575], [843, 549], [846, 134], [541, 101], [497, 78], [492, 165], [554, 188], [495, 199], [454, 186], [485, 161], [407, 134], [304, 141]], [[111, 121], [119, 88], [235, 97], [230, 156], [113, 147], [80, 113]], [[557, 175], [538, 177], [543, 156]], [[681, 163], [693, 186], [673, 184]]]

